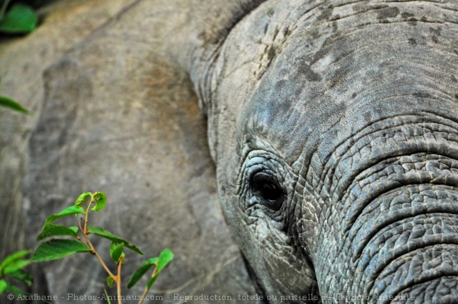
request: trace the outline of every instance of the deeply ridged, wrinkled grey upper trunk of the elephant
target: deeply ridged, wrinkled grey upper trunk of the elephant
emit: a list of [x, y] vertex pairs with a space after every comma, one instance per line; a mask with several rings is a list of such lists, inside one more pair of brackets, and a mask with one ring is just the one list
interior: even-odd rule
[[333, 174], [316, 197], [310, 249], [321, 295], [455, 303], [458, 126], [409, 117], [378, 127], [355, 134], [323, 166]]

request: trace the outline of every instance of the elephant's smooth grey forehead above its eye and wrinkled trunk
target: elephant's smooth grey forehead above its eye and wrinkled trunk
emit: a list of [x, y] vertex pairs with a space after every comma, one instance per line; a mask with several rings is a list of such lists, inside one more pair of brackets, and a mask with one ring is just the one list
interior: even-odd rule
[[[412, 21], [419, 7], [358, 9], [340, 9], [348, 17], [329, 21], [331, 10], [327, 21], [305, 21], [289, 34], [244, 104], [238, 136], [256, 134], [293, 163], [304, 150], [328, 144], [324, 159], [330, 143], [373, 121], [431, 107], [447, 111], [457, 91], [456, 24]], [[422, 17], [434, 20], [439, 10]]]

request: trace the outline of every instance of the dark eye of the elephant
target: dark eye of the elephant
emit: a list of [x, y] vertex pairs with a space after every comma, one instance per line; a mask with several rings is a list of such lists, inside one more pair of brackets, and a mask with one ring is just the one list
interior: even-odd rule
[[253, 193], [262, 198], [262, 203], [274, 211], [278, 211], [283, 204], [285, 193], [278, 181], [264, 172], [257, 172], [251, 178]]

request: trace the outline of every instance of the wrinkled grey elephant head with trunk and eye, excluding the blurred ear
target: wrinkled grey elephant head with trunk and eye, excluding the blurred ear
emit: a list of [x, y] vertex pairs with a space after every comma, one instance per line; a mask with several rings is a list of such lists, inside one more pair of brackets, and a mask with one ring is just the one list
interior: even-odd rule
[[223, 213], [267, 302], [458, 301], [457, 12], [271, 0], [194, 50]]

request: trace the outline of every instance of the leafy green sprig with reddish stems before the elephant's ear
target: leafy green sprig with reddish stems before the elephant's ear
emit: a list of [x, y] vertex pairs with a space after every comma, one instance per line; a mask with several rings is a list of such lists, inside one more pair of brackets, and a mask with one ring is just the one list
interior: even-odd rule
[[[87, 204], [86, 208], [83, 209], [85, 202], [89, 200], [89, 204]], [[101, 192], [94, 192], [94, 193], [83, 193], [81, 194], [74, 206], [69, 206], [64, 210], [60, 211], [60, 213], [53, 214], [46, 218], [44, 222], [44, 226], [40, 235], [38, 235], [37, 240], [44, 240], [46, 238], [56, 237], [56, 236], [67, 236], [74, 238], [76, 240], [71, 240], [69, 238], [51, 238], [46, 242], [42, 242], [32, 257], [33, 262], [44, 262], [49, 260], [58, 260], [60, 258], [64, 258], [65, 256], [70, 256], [74, 253], [81, 253], [81, 252], [89, 252], [96, 256], [97, 260], [99, 260], [100, 264], [102, 265], [103, 269], [108, 274], [107, 277], [107, 284], [108, 287], [112, 287], [114, 283], [117, 285], [117, 298], [118, 303], [121, 304], [121, 267], [124, 265], [125, 254], [124, 249], [130, 249], [143, 255], [142, 251], [135, 246], [134, 244], [120, 238], [117, 235], [114, 235], [110, 231], [106, 231], [105, 229], [98, 227], [98, 226], [90, 226], [89, 225], [89, 213], [91, 211], [101, 211], [105, 208], [106, 204], [106, 195], [105, 193]], [[54, 221], [60, 219], [61, 217], [67, 217], [69, 215], [83, 215], [80, 217], [78, 222], [78, 226], [61, 226], [53, 224]], [[80, 233], [82, 237], [78, 234]], [[99, 253], [96, 251], [94, 244], [89, 238], [89, 235], [98, 235], [101, 238], [105, 238], [111, 241], [110, 245], [110, 257], [117, 264], [117, 274], [113, 274], [112, 271], [108, 268], [105, 262], [102, 260]], [[155, 266], [153, 270], [153, 274], [151, 274], [151, 278], [149, 279], [146, 287], [144, 289], [144, 293], [142, 298], [139, 301], [139, 304], [143, 302], [144, 297], [151, 289], [151, 286], [158, 278], [162, 269], [164, 269], [167, 264], [173, 259], [173, 253], [169, 249], [164, 249], [158, 258], [150, 258], [144, 264], [135, 271], [132, 278], [128, 283], [128, 288], [133, 287], [144, 274], [146, 274], [151, 267]]]

